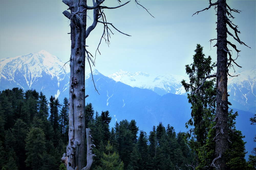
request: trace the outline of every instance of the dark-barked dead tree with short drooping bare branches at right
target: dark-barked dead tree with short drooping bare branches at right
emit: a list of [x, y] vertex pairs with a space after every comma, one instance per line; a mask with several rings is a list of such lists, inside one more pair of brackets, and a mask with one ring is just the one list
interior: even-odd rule
[[[228, 149], [229, 136], [228, 136], [228, 92], [227, 92], [227, 82], [228, 82], [228, 69], [233, 67], [235, 64], [239, 66], [234, 58], [232, 58], [232, 50], [228, 49], [227, 45], [231, 46], [236, 50], [237, 54], [240, 52], [236, 45], [227, 40], [227, 34], [233, 37], [239, 44], [246, 45], [240, 41], [238, 37], [238, 27], [232, 22], [234, 19], [232, 12], [240, 13], [240, 10], [231, 9], [226, 0], [218, 0], [215, 3], [211, 3], [209, 0], [209, 7], [201, 11], [208, 10], [212, 6], [217, 8], [217, 38], [210, 40], [217, 40], [217, 43], [214, 46], [217, 46], [217, 81], [216, 81], [216, 115], [214, 121], [216, 122], [216, 136], [214, 140], [216, 141], [215, 147], [215, 156], [216, 158], [212, 161], [211, 166], [216, 169], [224, 170], [226, 169], [226, 160], [225, 152]], [[197, 11], [195, 14], [198, 14], [201, 11]], [[193, 15], [195, 15], [193, 14]], [[227, 28], [227, 25], [229, 28]], [[229, 31], [233, 31], [234, 35]], [[247, 46], [247, 45], [246, 45]], [[247, 46], [248, 47], [248, 46]], [[237, 55], [238, 56], [238, 55]]]

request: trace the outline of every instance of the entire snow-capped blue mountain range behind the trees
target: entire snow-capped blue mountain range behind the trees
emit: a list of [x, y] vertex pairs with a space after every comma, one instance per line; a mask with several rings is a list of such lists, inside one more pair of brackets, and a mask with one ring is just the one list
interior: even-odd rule
[[[69, 64], [45, 50], [0, 61], [0, 90], [13, 87], [42, 91], [49, 99], [51, 95], [62, 102], [69, 95]], [[237, 129], [241, 130], [247, 141], [248, 153], [255, 147], [253, 137], [255, 127], [249, 118], [255, 113], [255, 68], [237, 70], [240, 76], [230, 77], [228, 85], [229, 101], [232, 108], [239, 111]], [[100, 95], [95, 92], [91, 73], [86, 74], [86, 102], [92, 103], [94, 110], [109, 110], [115, 121], [134, 119], [140, 130], [149, 134], [152, 127], [162, 122], [170, 124], [176, 132], [185, 132], [185, 123], [190, 119], [190, 107], [182, 79], [188, 78], [166, 74], [150, 75], [143, 72], [120, 70], [104, 76], [93, 70], [95, 85]]]

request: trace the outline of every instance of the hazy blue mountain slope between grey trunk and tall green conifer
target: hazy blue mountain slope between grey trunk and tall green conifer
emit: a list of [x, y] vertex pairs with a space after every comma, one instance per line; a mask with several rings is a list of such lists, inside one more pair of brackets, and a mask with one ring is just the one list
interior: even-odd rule
[[170, 124], [178, 131], [185, 130], [186, 118], [190, 116], [190, 105], [186, 96], [159, 96], [152, 90], [115, 82], [100, 73], [94, 75], [94, 81], [100, 95], [95, 92], [93, 83], [87, 81], [86, 94], [89, 97], [86, 102], [92, 103], [94, 110], [108, 110], [112, 117], [111, 126], [114, 126], [115, 119], [117, 122], [134, 119], [140, 130], [147, 133], [159, 122], [165, 126]]

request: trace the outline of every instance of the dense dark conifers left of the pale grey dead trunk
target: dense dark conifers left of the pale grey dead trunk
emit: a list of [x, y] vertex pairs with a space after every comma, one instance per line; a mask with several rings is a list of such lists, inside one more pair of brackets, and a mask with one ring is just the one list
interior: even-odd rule
[[54, 146], [45, 95], [13, 88], [0, 99], [0, 169], [57, 170], [68, 139]]

